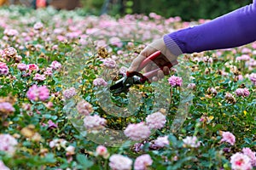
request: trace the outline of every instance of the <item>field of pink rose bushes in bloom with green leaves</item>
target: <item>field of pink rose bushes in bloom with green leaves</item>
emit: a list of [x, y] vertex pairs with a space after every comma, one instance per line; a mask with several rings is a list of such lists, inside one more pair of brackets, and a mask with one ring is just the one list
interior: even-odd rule
[[[15, 6], [0, 17], [1, 169], [255, 168], [255, 42], [180, 56], [191, 81], [176, 67], [161, 80], [167, 109], [153, 111], [160, 94], [146, 83], [131, 88], [139, 91], [134, 113], [113, 116], [99, 105], [98, 89], [125, 74], [146, 43], [196, 23]], [[193, 91], [193, 105], [173, 132], [182, 86]], [[125, 94], [111, 99], [129, 105]], [[96, 134], [100, 143], [106, 128], [127, 141], [113, 147], [87, 138]]]

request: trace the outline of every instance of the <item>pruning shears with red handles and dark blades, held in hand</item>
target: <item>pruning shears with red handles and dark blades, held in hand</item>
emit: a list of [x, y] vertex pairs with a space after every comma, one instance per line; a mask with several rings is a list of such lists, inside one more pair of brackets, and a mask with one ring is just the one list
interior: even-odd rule
[[[144, 59], [141, 65], [139, 65], [137, 71], [143, 70], [143, 68], [148, 65], [149, 62], [153, 61], [157, 57], [159, 57], [161, 54], [160, 51], [154, 52], [154, 54], [151, 54], [148, 56], [148, 58]], [[158, 71], [163, 70], [165, 66], [167, 66], [169, 69], [172, 68], [172, 66], [177, 65], [177, 60], [174, 60], [171, 62], [166, 62], [165, 65], [159, 65], [159, 68], [155, 69], [154, 71], [149, 71], [145, 74], [141, 74], [137, 71], [134, 72], [126, 72], [126, 76], [119, 79], [117, 82], [115, 82], [110, 87], [110, 92], [112, 94], [121, 94], [121, 93], [127, 93], [129, 91], [129, 88], [133, 86], [134, 84], [143, 84], [144, 82], [149, 82], [149, 79], [152, 77], [157, 76]]]

